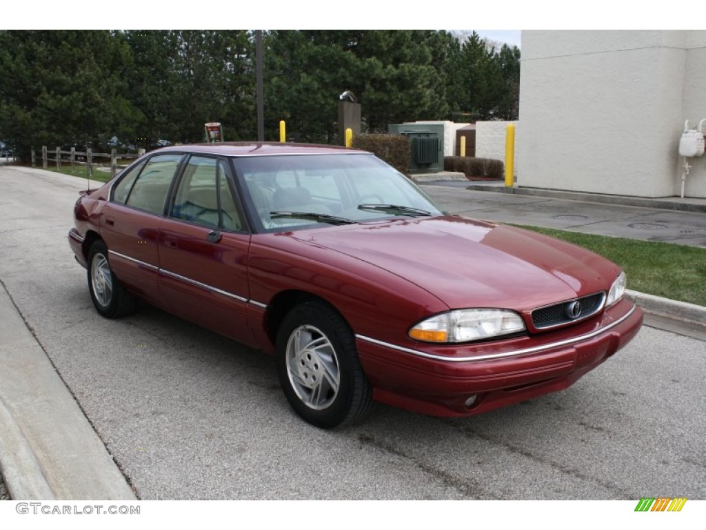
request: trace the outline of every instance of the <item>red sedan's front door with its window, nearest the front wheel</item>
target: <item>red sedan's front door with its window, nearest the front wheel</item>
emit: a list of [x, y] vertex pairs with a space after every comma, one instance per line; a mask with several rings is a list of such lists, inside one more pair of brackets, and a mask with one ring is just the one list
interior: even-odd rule
[[191, 155], [160, 225], [160, 290], [169, 310], [253, 346], [249, 245], [225, 160]]

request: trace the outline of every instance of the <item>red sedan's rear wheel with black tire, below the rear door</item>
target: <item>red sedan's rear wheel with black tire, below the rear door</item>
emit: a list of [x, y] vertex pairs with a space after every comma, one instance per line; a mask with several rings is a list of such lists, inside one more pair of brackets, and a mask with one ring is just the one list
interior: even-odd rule
[[109, 319], [126, 317], [137, 309], [137, 299], [113, 274], [108, 248], [98, 240], [88, 251], [88, 290], [97, 312]]

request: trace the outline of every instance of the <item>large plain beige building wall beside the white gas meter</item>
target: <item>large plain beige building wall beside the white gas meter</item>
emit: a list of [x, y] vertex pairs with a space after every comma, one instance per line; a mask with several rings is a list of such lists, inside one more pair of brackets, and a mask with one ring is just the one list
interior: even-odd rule
[[[683, 124], [706, 117], [706, 31], [522, 32], [517, 184], [662, 197], [680, 191]], [[686, 196], [706, 197], [691, 159]]]

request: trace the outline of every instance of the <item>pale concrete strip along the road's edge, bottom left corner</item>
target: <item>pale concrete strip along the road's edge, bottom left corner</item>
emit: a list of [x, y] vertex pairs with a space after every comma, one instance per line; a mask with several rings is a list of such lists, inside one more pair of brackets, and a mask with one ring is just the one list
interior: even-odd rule
[[14, 500], [136, 500], [0, 284], [0, 472]]

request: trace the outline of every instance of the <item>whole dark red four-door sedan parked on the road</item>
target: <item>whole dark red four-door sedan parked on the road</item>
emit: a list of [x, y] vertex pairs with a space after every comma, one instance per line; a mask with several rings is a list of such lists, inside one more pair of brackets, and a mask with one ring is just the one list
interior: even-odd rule
[[289, 403], [323, 428], [373, 400], [469, 416], [564, 389], [642, 324], [611, 261], [450, 216], [362, 151], [164, 148], [74, 214], [102, 316], [145, 300], [276, 355]]

